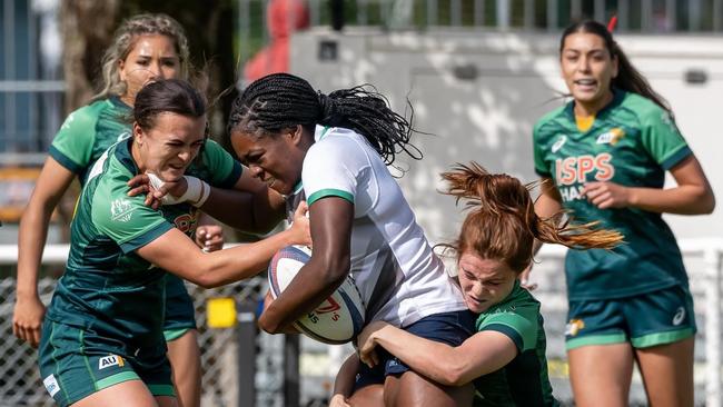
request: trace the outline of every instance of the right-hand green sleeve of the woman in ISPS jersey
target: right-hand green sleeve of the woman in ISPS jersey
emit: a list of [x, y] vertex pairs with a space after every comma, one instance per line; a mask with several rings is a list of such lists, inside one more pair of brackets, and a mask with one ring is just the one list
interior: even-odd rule
[[671, 169], [692, 153], [670, 113], [655, 105], [641, 117], [641, 139], [651, 157]]

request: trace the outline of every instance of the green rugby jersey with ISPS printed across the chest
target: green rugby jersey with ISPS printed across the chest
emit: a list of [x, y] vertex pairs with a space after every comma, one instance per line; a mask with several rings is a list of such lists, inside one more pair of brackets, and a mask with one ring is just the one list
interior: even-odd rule
[[602, 227], [622, 232], [625, 242], [613, 251], [570, 250], [565, 259], [568, 298], [621, 298], [674, 285], [687, 287], [681, 251], [661, 214], [598, 209], [580, 193], [592, 181], [662, 188], [665, 170], [692, 153], [675, 123], [653, 101], [614, 90], [611, 103], [581, 132], [573, 105], [535, 125], [535, 170], [554, 180], [575, 222], [598, 220]]

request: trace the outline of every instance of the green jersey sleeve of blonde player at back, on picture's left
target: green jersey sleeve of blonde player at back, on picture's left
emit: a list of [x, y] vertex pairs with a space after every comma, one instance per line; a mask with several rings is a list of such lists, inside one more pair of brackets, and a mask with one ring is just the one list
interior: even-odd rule
[[50, 157], [75, 173], [90, 165], [96, 141], [96, 106], [82, 107], [68, 116], [50, 145]]

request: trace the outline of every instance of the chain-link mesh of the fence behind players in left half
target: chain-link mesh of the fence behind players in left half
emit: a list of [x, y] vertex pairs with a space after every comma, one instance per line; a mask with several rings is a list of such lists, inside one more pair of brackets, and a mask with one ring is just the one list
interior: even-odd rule
[[[44, 304], [50, 302], [56, 286], [55, 278], [42, 278], [39, 292]], [[254, 278], [240, 284], [216, 289], [202, 289], [188, 285], [198, 322], [198, 341], [202, 364], [202, 405], [238, 405], [239, 344], [236, 328], [209, 329], [206, 325], [206, 301], [214, 297], [230, 297], [237, 304], [258, 302], [265, 292], [266, 279]], [[12, 308], [14, 306], [14, 279], [0, 279], [0, 406], [52, 406], [37, 367], [37, 351], [12, 335]], [[284, 385], [281, 347], [283, 336], [256, 336], [256, 404], [257, 406], [283, 406]]]

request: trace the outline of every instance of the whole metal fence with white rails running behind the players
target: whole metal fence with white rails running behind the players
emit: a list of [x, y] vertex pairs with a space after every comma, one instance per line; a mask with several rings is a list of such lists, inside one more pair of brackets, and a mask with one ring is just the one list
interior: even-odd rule
[[[695, 318], [699, 334], [695, 348], [695, 399], [697, 406], [721, 405], [721, 277], [723, 275], [723, 239], [683, 240], [681, 242], [685, 266], [691, 278], [691, 291], [695, 301]], [[49, 246], [43, 262], [62, 262], [67, 246]], [[534, 292], [542, 302], [547, 335], [547, 358], [549, 377], [555, 396], [572, 405], [572, 391], [567, 376], [564, 330], [567, 301], [563, 277], [565, 250], [545, 247], [537, 256], [539, 264], [533, 270], [533, 280], [539, 284]], [[0, 264], [12, 265], [17, 259], [14, 246], [0, 246]], [[40, 281], [42, 300], [48, 302], [56, 280]], [[196, 302], [199, 326], [199, 345], [202, 351], [202, 406], [246, 406], [239, 404], [245, 395], [239, 394], [241, 380], [252, 380], [257, 406], [281, 407], [291, 403], [299, 406], [320, 406], [328, 397], [334, 377], [341, 361], [351, 351], [350, 346], [327, 346], [301, 337], [298, 360], [300, 377], [296, 383], [285, 383], [285, 337], [257, 334], [256, 374], [254, 379], [239, 377], [244, 370], [239, 351], [247, 345], [239, 341], [239, 331], [208, 329], [206, 326], [206, 301], [215, 297], [231, 297], [237, 304], [260, 299], [266, 291], [266, 279], [255, 278], [245, 282], [205, 290], [188, 285]], [[37, 355], [28, 345], [11, 334], [12, 307], [14, 302], [14, 279], [0, 279], [0, 407], [50, 406], [36, 366]], [[247, 381], [246, 384], [249, 384]], [[299, 386], [298, 398], [284, 399], [286, 386]], [[294, 393], [291, 393], [294, 394]], [[635, 375], [631, 389], [631, 404], [645, 405], [645, 393]]]

